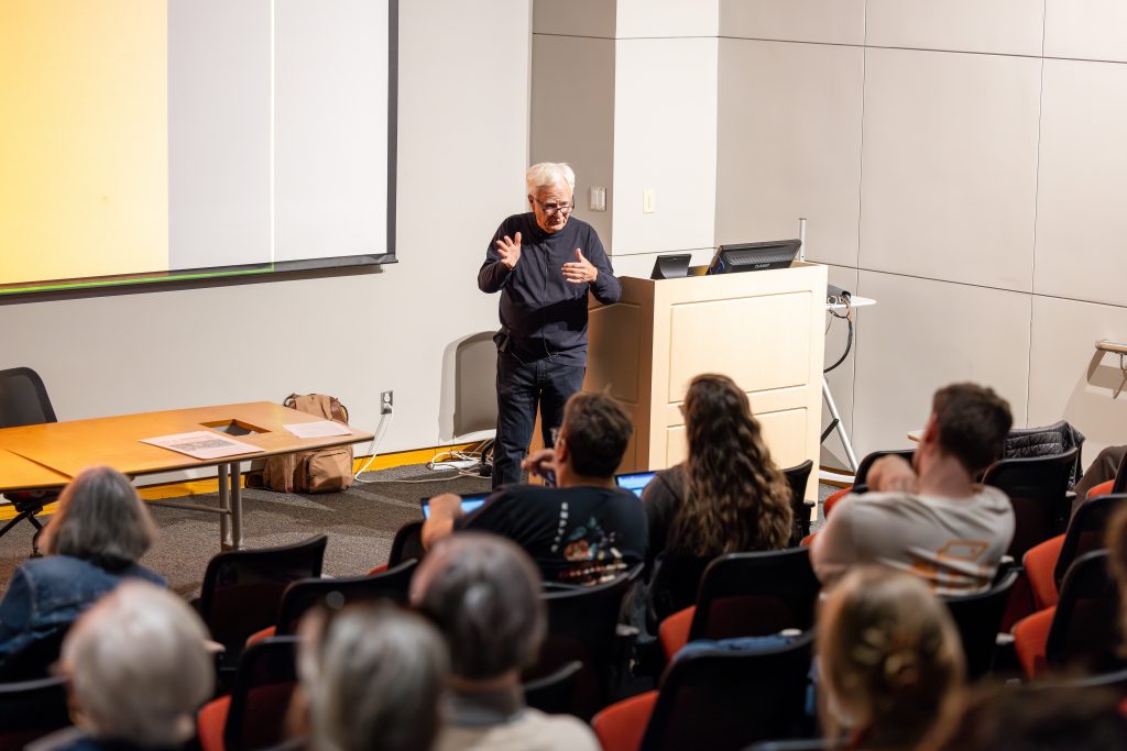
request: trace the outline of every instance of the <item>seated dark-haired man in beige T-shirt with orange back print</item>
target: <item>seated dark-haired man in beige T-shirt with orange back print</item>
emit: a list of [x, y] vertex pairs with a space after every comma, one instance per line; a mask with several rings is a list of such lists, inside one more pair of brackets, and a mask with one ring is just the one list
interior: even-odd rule
[[939, 594], [990, 589], [1013, 538], [1005, 493], [975, 483], [1002, 454], [1012, 418], [992, 390], [953, 384], [935, 392], [909, 465], [897, 456], [869, 471], [869, 492], [850, 494], [814, 538], [818, 579], [880, 563], [924, 579]]

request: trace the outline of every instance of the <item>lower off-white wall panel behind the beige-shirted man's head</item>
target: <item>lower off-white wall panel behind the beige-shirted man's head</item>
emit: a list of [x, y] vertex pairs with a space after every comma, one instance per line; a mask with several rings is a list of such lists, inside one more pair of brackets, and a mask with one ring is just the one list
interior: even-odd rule
[[934, 391], [958, 381], [991, 386], [1026, 423], [1030, 295], [864, 270], [858, 286], [877, 299], [857, 351], [859, 455], [908, 446]]

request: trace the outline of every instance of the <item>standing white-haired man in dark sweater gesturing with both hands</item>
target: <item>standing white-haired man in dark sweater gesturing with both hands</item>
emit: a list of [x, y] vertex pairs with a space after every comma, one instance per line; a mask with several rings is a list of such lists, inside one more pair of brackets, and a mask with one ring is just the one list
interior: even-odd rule
[[544, 446], [587, 369], [587, 293], [610, 304], [622, 287], [595, 230], [571, 215], [575, 171], [541, 162], [525, 175], [529, 207], [502, 222], [478, 271], [478, 287], [500, 293], [497, 437], [492, 486], [521, 481], [540, 406]]

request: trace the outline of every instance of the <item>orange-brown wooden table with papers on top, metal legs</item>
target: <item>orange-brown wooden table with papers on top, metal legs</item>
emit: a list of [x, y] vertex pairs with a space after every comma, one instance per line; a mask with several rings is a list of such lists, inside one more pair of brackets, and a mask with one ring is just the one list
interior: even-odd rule
[[[238, 549], [242, 547], [240, 479], [243, 461], [372, 439], [372, 433], [353, 429], [348, 436], [298, 438], [283, 427], [319, 420], [316, 415], [281, 404], [247, 402], [5, 428], [0, 430], [0, 492], [57, 486], [86, 467], [99, 465], [110, 466], [130, 476], [214, 466], [219, 468], [218, 509], [197, 503], [150, 502], [219, 513], [220, 545], [224, 549]], [[143, 438], [216, 430], [232, 424], [251, 432], [230, 435], [231, 438], [261, 450], [219, 459], [197, 459], [141, 442]], [[219, 432], [223, 433], [222, 430]]]

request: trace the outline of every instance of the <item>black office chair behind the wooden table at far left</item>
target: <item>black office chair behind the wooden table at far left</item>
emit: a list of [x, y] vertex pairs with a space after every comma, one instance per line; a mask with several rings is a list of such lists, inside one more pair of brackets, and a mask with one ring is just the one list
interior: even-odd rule
[[[39, 374], [32, 368], [0, 370], [0, 428], [18, 428], [57, 421]], [[5, 493], [5, 498], [16, 509], [16, 516], [0, 528], [0, 537], [27, 519], [35, 527], [35, 537], [32, 538], [32, 554], [38, 555], [37, 543], [43, 524], [36, 519], [36, 516], [43, 511], [44, 506], [59, 498], [59, 490], [23, 490]]]

